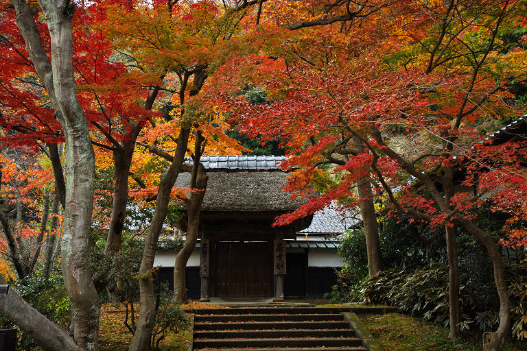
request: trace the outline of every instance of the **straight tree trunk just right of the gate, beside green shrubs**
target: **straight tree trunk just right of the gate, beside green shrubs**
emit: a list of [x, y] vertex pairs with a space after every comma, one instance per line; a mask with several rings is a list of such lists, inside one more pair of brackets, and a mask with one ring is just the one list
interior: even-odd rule
[[[359, 153], [364, 152], [362, 141], [357, 136], [353, 137], [355, 149]], [[379, 226], [377, 226], [377, 215], [373, 204], [373, 193], [369, 175], [358, 178], [358, 195], [360, 198], [359, 206], [366, 233], [366, 253], [368, 255], [368, 273], [375, 276], [382, 269], [381, 248], [379, 245]]]

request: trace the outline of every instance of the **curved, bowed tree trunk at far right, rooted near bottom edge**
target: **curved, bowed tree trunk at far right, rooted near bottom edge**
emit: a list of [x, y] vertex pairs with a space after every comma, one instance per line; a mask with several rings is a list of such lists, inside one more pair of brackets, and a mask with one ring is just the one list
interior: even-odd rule
[[505, 269], [500, 249], [493, 237], [487, 234], [487, 232], [484, 232], [484, 230], [481, 230], [469, 219], [457, 216], [454, 218], [454, 221], [465, 228], [473, 237], [476, 237], [487, 248], [487, 252], [491, 256], [494, 266], [494, 282], [496, 283], [497, 295], [500, 298], [500, 324], [495, 332], [486, 333], [488, 338], [484, 340], [483, 350], [501, 351], [503, 350], [506, 338], [511, 332], [511, 302], [508, 299]]

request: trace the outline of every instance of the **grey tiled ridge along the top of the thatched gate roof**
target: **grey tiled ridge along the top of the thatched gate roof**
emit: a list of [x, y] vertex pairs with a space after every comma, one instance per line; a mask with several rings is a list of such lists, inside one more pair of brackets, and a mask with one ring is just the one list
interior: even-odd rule
[[[205, 169], [278, 169], [285, 156], [201, 156]], [[189, 160], [189, 163], [192, 163]]]

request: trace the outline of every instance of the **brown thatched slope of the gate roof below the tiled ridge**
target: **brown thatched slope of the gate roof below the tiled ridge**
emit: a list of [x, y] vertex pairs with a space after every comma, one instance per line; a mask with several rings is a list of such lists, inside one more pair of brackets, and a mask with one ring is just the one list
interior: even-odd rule
[[[296, 210], [303, 202], [290, 200], [282, 186], [287, 174], [278, 169], [209, 169], [202, 211], [267, 212]], [[176, 186], [188, 188], [189, 173], [180, 173]]]

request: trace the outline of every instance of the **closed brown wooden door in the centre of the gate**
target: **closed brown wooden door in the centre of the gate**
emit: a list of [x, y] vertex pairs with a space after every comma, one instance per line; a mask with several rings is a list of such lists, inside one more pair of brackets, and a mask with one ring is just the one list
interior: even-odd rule
[[270, 242], [215, 241], [211, 251], [212, 295], [218, 298], [272, 296]]

